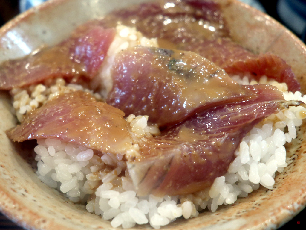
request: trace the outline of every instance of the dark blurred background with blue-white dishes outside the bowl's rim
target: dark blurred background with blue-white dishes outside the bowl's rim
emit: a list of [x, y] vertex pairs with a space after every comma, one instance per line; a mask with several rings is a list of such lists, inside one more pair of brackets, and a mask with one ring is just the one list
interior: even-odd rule
[[[47, 0], [0, 0], [0, 27], [17, 14]], [[306, 43], [306, 0], [241, 0], [285, 25]], [[306, 229], [306, 209], [279, 230]], [[0, 213], [0, 229], [22, 228]]]

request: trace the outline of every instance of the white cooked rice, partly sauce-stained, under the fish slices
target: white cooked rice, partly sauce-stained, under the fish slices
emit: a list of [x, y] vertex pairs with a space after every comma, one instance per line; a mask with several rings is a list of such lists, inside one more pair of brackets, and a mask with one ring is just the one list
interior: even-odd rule
[[[135, 28], [120, 25], [116, 29], [115, 39], [100, 69], [104, 76], [101, 86], [104, 97], [112, 87], [109, 69], [117, 52], [138, 44], [158, 46], [156, 39], [143, 37]], [[259, 82], [249, 82], [248, 78], [240, 79], [239, 76], [232, 76], [232, 79], [240, 84], [271, 84], [283, 92], [285, 100], [306, 103], [306, 97], [300, 92], [288, 92], [285, 83], [267, 80], [265, 76]], [[93, 80], [98, 81], [99, 78]], [[27, 89], [15, 88], [11, 94], [17, 118], [22, 121], [24, 114], [51, 98], [76, 90], [93, 94], [83, 86], [66, 84], [63, 79]], [[94, 96], [103, 100], [99, 94]], [[42, 182], [61, 191], [71, 201], [86, 204], [88, 212], [111, 220], [112, 227], [130, 228], [135, 224], [150, 223], [158, 229], [179, 217], [197, 217], [206, 208], [215, 212], [218, 206], [233, 204], [238, 197], [248, 196], [260, 185], [272, 189], [275, 174], [287, 166], [284, 144], [296, 138], [295, 127], [300, 126], [305, 117], [306, 109], [298, 106], [265, 118], [244, 136], [227, 173], [216, 178], [211, 188], [189, 195], [137, 196], [134, 184], [129, 180], [124, 155], [94, 154], [91, 149], [61, 140], [37, 140], [38, 145], [34, 149], [37, 153], [35, 160], [38, 161], [36, 173]], [[126, 121], [130, 126], [129, 132], [137, 138], [159, 135], [157, 126], [147, 123], [148, 116], [131, 114]], [[134, 148], [133, 151], [137, 151], [137, 144]]]

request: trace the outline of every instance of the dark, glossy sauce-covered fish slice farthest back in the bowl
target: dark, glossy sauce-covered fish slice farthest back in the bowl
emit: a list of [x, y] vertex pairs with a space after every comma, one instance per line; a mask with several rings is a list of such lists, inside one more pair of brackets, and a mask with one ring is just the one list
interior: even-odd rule
[[[174, 48], [181, 42], [229, 36], [220, 6], [211, 0], [160, 0], [113, 11], [92, 24], [105, 28], [122, 25], [136, 27], [146, 37], [165, 41], [164, 48]], [[168, 42], [167, 42], [168, 41]]]

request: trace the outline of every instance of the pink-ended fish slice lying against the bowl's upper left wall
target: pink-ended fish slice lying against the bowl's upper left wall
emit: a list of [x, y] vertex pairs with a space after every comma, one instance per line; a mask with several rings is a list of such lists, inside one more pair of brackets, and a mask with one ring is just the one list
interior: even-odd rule
[[62, 43], [0, 65], [0, 89], [27, 86], [64, 77], [71, 82], [92, 79], [114, 40], [114, 29], [82, 25]]

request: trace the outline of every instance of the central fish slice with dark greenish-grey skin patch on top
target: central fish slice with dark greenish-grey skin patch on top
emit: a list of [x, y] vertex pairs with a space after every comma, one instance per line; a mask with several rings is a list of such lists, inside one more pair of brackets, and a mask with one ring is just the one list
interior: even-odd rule
[[129, 48], [117, 54], [111, 75], [106, 102], [125, 114], [148, 115], [159, 127], [209, 107], [255, 100], [260, 89], [282, 98], [271, 86], [240, 85], [214, 63], [187, 51]]

